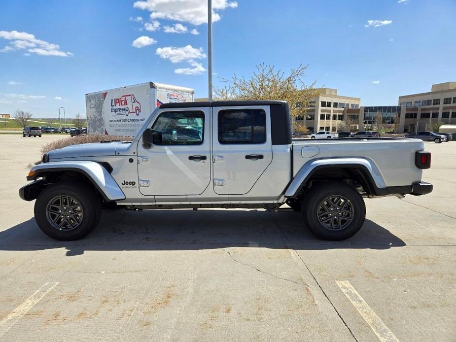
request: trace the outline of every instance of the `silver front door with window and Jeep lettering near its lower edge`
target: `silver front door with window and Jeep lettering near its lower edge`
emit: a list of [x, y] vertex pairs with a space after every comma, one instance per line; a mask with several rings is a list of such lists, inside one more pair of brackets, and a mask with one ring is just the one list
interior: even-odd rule
[[162, 111], [151, 125], [162, 141], [138, 142], [140, 193], [200, 195], [210, 183], [210, 108]]

